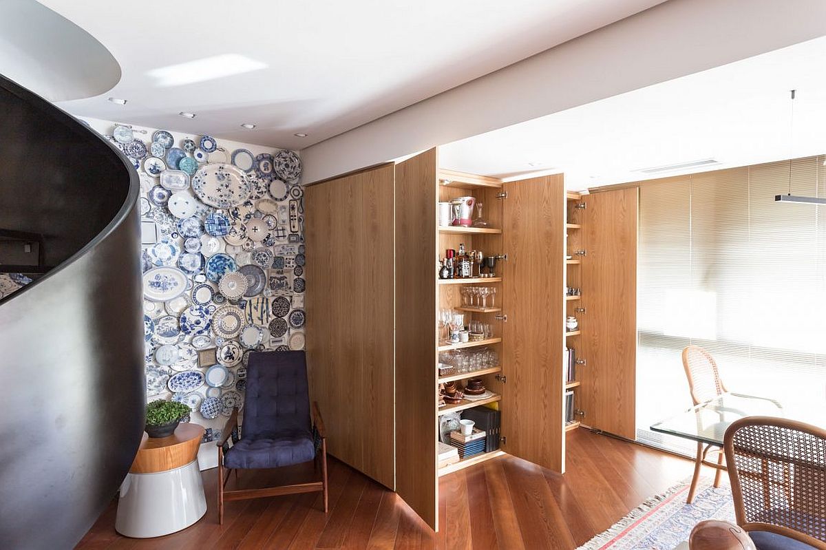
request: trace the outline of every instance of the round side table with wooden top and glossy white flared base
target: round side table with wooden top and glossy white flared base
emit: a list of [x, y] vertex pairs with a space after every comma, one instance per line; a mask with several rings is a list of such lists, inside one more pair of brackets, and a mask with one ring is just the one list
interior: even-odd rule
[[186, 529], [207, 513], [198, 448], [204, 429], [180, 424], [167, 438], [144, 434], [121, 484], [115, 529], [126, 537], [160, 537]]

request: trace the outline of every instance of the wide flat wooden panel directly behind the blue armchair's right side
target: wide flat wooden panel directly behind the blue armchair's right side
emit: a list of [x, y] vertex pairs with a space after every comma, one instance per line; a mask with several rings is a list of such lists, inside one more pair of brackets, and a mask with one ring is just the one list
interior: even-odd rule
[[306, 188], [306, 350], [327, 448], [393, 487], [393, 166]]

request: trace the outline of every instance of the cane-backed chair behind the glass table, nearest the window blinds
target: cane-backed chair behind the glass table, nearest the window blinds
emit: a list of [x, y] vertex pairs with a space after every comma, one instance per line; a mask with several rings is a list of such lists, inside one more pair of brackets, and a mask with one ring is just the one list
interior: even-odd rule
[[[705, 349], [699, 346], [688, 346], [682, 350], [682, 366], [686, 369], [688, 378], [688, 389], [691, 391], [691, 399], [695, 405], [711, 401], [715, 397], [726, 392], [723, 381], [720, 380], [717, 363]], [[707, 461], [705, 457], [708, 453], [717, 453], [717, 464]], [[714, 474], [714, 486], [719, 487], [720, 476], [723, 473], [723, 449], [715, 445], [705, 445], [697, 442], [697, 458], [694, 464], [694, 477], [691, 478], [691, 488], [688, 491], [686, 502], [691, 504], [694, 500], [694, 493], [697, 489], [697, 481], [700, 479], [700, 467], [710, 466], [716, 469]]]

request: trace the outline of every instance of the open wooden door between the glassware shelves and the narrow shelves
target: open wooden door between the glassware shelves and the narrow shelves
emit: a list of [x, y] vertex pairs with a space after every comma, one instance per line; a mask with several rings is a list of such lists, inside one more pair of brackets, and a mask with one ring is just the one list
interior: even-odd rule
[[503, 189], [503, 448], [564, 472], [563, 175], [505, 183]]

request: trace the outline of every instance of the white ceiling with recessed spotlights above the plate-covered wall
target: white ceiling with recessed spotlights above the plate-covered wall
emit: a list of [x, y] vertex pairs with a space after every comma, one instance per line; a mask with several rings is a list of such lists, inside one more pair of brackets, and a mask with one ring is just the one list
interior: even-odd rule
[[[123, 73], [102, 96], [60, 107], [76, 115], [291, 149], [661, 2], [40, 0], [100, 40]], [[195, 71], [184, 66], [153, 75], [204, 59], [206, 67]], [[216, 75], [210, 77], [210, 69]], [[233, 70], [237, 73], [218, 75]], [[178, 83], [170, 82], [170, 75]], [[180, 82], [197, 78], [208, 79]], [[107, 97], [128, 102], [120, 106]], [[179, 111], [197, 117], [185, 119]], [[258, 127], [243, 130], [244, 122]], [[293, 135], [299, 132], [309, 137]]]

